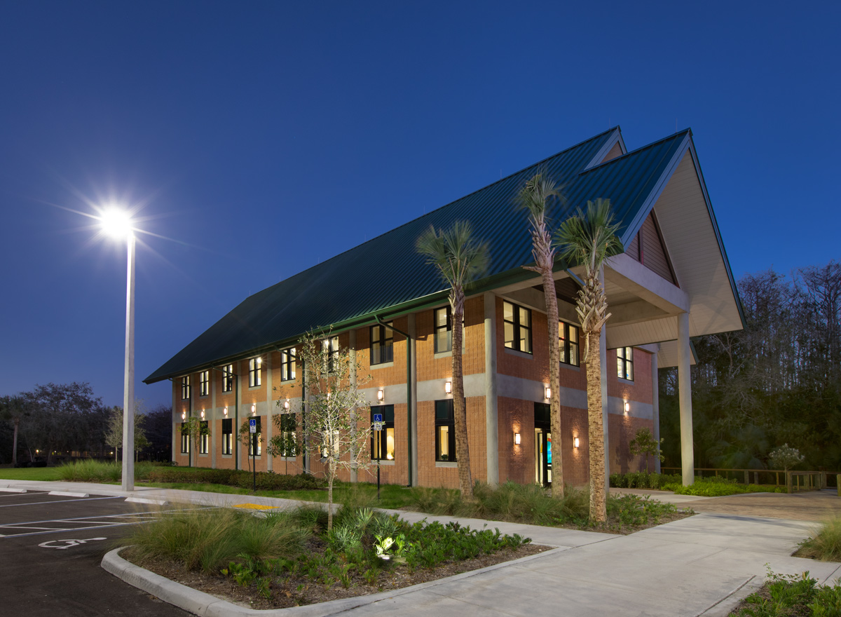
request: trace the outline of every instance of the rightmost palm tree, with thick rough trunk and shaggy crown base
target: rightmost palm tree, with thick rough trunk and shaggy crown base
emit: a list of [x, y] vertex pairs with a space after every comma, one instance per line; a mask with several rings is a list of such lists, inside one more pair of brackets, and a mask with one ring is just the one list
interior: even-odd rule
[[587, 365], [587, 416], [590, 440], [590, 519], [607, 519], [605, 495], [605, 427], [601, 416], [601, 328], [611, 316], [601, 284], [601, 269], [608, 255], [620, 253], [609, 199], [587, 202], [563, 221], [555, 234], [561, 257], [570, 264], [584, 266], [584, 289], [579, 290], [575, 311], [584, 333], [584, 363]]

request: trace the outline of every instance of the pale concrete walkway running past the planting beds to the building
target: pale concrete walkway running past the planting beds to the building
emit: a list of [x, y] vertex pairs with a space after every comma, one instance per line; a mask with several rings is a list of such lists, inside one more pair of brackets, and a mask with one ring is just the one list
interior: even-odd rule
[[[32, 490], [78, 491], [119, 495], [154, 502], [203, 503], [208, 505], [259, 504], [281, 508], [296, 502], [267, 497], [139, 488], [125, 493], [119, 487], [71, 482], [3, 481], [0, 487]], [[660, 497], [665, 497], [663, 494]], [[682, 497], [682, 496], [672, 496]], [[787, 497], [787, 496], [781, 496]], [[720, 497], [690, 498], [705, 503]], [[409, 521], [452, 520], [420, 513], [400, 512]], [[774, 572], [797, 574], [809, 571], [818, 582], [841, 577], [841, 564], [791, 557], [799, 541], [812, 531], [813, 523], [771, 519], [733, 513], [699, 513], [674, 523], [633, 535], [605, 535], [571, 529], [458, 519], [481, 528], [487, 524], [506, 534], [531, 537], [537, 544], [557, 550], [526, 557], [510, 564], [468, 572], [458, 577], [425, 583], [398, 592], [336, 603], [285, 609], [253, 611], [232, 604], [198, 597], [179, 590], [176, 583], [157, 581], [150, 593], [197, 614], [225, 615], [345, 615], [403, 614], [442, 617], [448, 614], [495, 615], [663, 615], [716, 617], [726, 615], [740, 598], [761, 585], [767, 567]], [[145, 577], [139, 568], [121, 569], [124, 580], [135, 585]], [[118, 567], [119, 566], [119, 567]], [[134, 568], [134, 569], [132, 569]], [[142, 584], [142, 583], [141, 583]]]

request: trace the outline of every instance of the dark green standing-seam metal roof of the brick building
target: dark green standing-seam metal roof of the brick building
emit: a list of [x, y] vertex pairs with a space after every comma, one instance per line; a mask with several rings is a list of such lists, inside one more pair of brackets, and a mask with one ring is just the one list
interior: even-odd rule
[[532, 263], [532, 240], [514, 199], [537, 170], [563, 184], [567, 197], [566, 205], [557, 199], [549, 205], [550, 221], [562, 221], [587, 199], [610, 199], [627, 245], [662, 190], [669, 166], [685, 152], [690, 135], [684, 130], [588, 168], [598, 153], [621, 138], [618, 127], [607, 130], [249, 296], [144, 381], [244, 358], [292, 343], [313, 329], [373, 321], [373, 315], [396, 315], [441, 301], [448, 290], [436, 269], [415, 251], [415, 240], [431, 225], [470, 221], [475, 236], [489, 243], [489, 269], [474, 289], [498, 286], [500, 279], [526, 278], [530, 274], [521, 266]]

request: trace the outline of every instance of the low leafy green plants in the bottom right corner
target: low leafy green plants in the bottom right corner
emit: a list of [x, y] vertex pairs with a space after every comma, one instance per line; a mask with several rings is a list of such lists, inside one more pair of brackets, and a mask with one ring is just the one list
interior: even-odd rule
[[838, 617], [841, 615], [841, 581], [818, 585], [809, 572], [782, 575], [769, 572], [757, 593], [751, 593], [732, 617], [782, 617], [803, 615]]

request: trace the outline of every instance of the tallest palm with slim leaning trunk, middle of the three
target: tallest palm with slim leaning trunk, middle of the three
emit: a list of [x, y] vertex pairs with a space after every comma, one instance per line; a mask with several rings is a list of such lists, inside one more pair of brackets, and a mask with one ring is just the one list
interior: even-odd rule
[[549, 401], [549, 418], [552, 434], [555, 436], [552, 469], [552, 496], [563, 497], [563, 455], [561, 452], [561, 392], [560, 392], [560, 345], [558, 343], [558, 296], [555, 294], [555, 247], [552, 244], [552, 232], [546, 221], [546, 202], [550, 197], [563, 200], [557, 184], [545, 173], [536, 173], [526, 182], [516, 203], [528, 211], [528, 223], [532, 234], [533, 266], [523, 266], [526, 270], [540, 273], [543, 279], [543, 294], [546, 296], [546, 318], [549, 322], [549, 389], [552, 397]]

